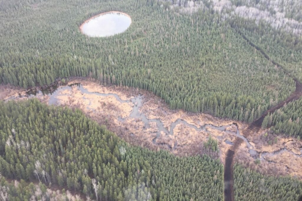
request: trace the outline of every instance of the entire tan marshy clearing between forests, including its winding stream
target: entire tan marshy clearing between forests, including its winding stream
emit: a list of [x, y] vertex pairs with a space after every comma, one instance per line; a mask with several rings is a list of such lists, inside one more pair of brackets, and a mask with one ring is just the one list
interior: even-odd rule
[[[18, 100], [19, 94], [26, 93], [18, 91], [4, 99], [15, 97]], [[87, 79], [74, 79], [66, 87], [58, 87], [50, 94], [40, 92], [29, 97], [36, 97], [47, 104], [79, 108], [132, 145], [168, 150], [179, 156], [214, 154], [225, 163], [228, 149], [233, 149], [234, 144], [238, 140], [244, 141], [244, 138], [247, 142], [237, 145], [236, 161], [265, 174], [290, 174], [302, 179], [302, 142], [292, 137], [268, 134], [267, 129], [260, 129], [258, 123], [254, 123], [257, 130], [249, 131], [253, 124], [223, 120], [205, 113], [171, 110], [162, 99], [148, 91], [104, 86]], [[27, 97], [21, 97], [24, 98]], [[217, 140], [219, 154], [203, 150], [209, 136]], [[280, 152], [283, 148], [286, 151]], [[252, 154], [251, 150], [254, 151]], [[256, 160], [261, 162], [256, 164]]]

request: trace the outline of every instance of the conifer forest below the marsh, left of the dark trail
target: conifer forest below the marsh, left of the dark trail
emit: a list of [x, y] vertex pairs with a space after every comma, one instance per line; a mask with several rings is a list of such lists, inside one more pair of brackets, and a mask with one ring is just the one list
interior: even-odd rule
[[223, 165], [133, 147], [79, 110], [0, 102], [0, 172], [97, 200], [223, 200]]

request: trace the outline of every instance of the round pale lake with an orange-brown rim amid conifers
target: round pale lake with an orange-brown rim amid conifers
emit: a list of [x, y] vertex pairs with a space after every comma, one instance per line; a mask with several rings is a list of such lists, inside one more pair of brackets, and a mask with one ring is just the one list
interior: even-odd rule
[[111, 11], [89, 18], [81, 24], [80, 31], [89, 37], [106, 37], [124, 32], [130, 24], [129, 15]]

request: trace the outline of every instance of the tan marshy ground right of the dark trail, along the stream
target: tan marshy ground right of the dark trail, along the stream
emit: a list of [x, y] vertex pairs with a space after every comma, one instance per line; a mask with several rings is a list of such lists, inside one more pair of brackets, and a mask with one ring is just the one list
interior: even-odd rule
[[[242, 143], [238, 148], [235, 155], [235, 161], [245, 164], [246, 166], [255, 169], [263, 174], [269, 175], [291, 175], [302, 179], [302, 157], [300, 147], [302, 147], [301, 140], [295, 138], [285, 138], [282, 136], [276, 136], [268, 134], [264, 136], [267, 130], [262, 130], [254, 135], [249, 136], [250, 143], [254, 146], [254, 150], [257, 152], [277, 152], [275, 155], [263, 156], [260, 154], [260, 164], [256, 164], [255, 158], [252, 158], [248, 153], [245, 143]], [[274, 142], [274, 140], [276, 141]], [[271, 143], [270, 143], [271, 141]], [[294, 155], [290, 152], [278, 152], [282, 148], [287, 148], [294, 152]]]

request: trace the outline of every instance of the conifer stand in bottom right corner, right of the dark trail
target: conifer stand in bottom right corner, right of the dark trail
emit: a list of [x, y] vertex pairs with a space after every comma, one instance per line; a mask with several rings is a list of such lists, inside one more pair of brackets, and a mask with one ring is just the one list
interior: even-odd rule
[[291, 177], [265, 176], [239, 164], [234, 165], [235, 200], [298, 200], [302, 182]]

